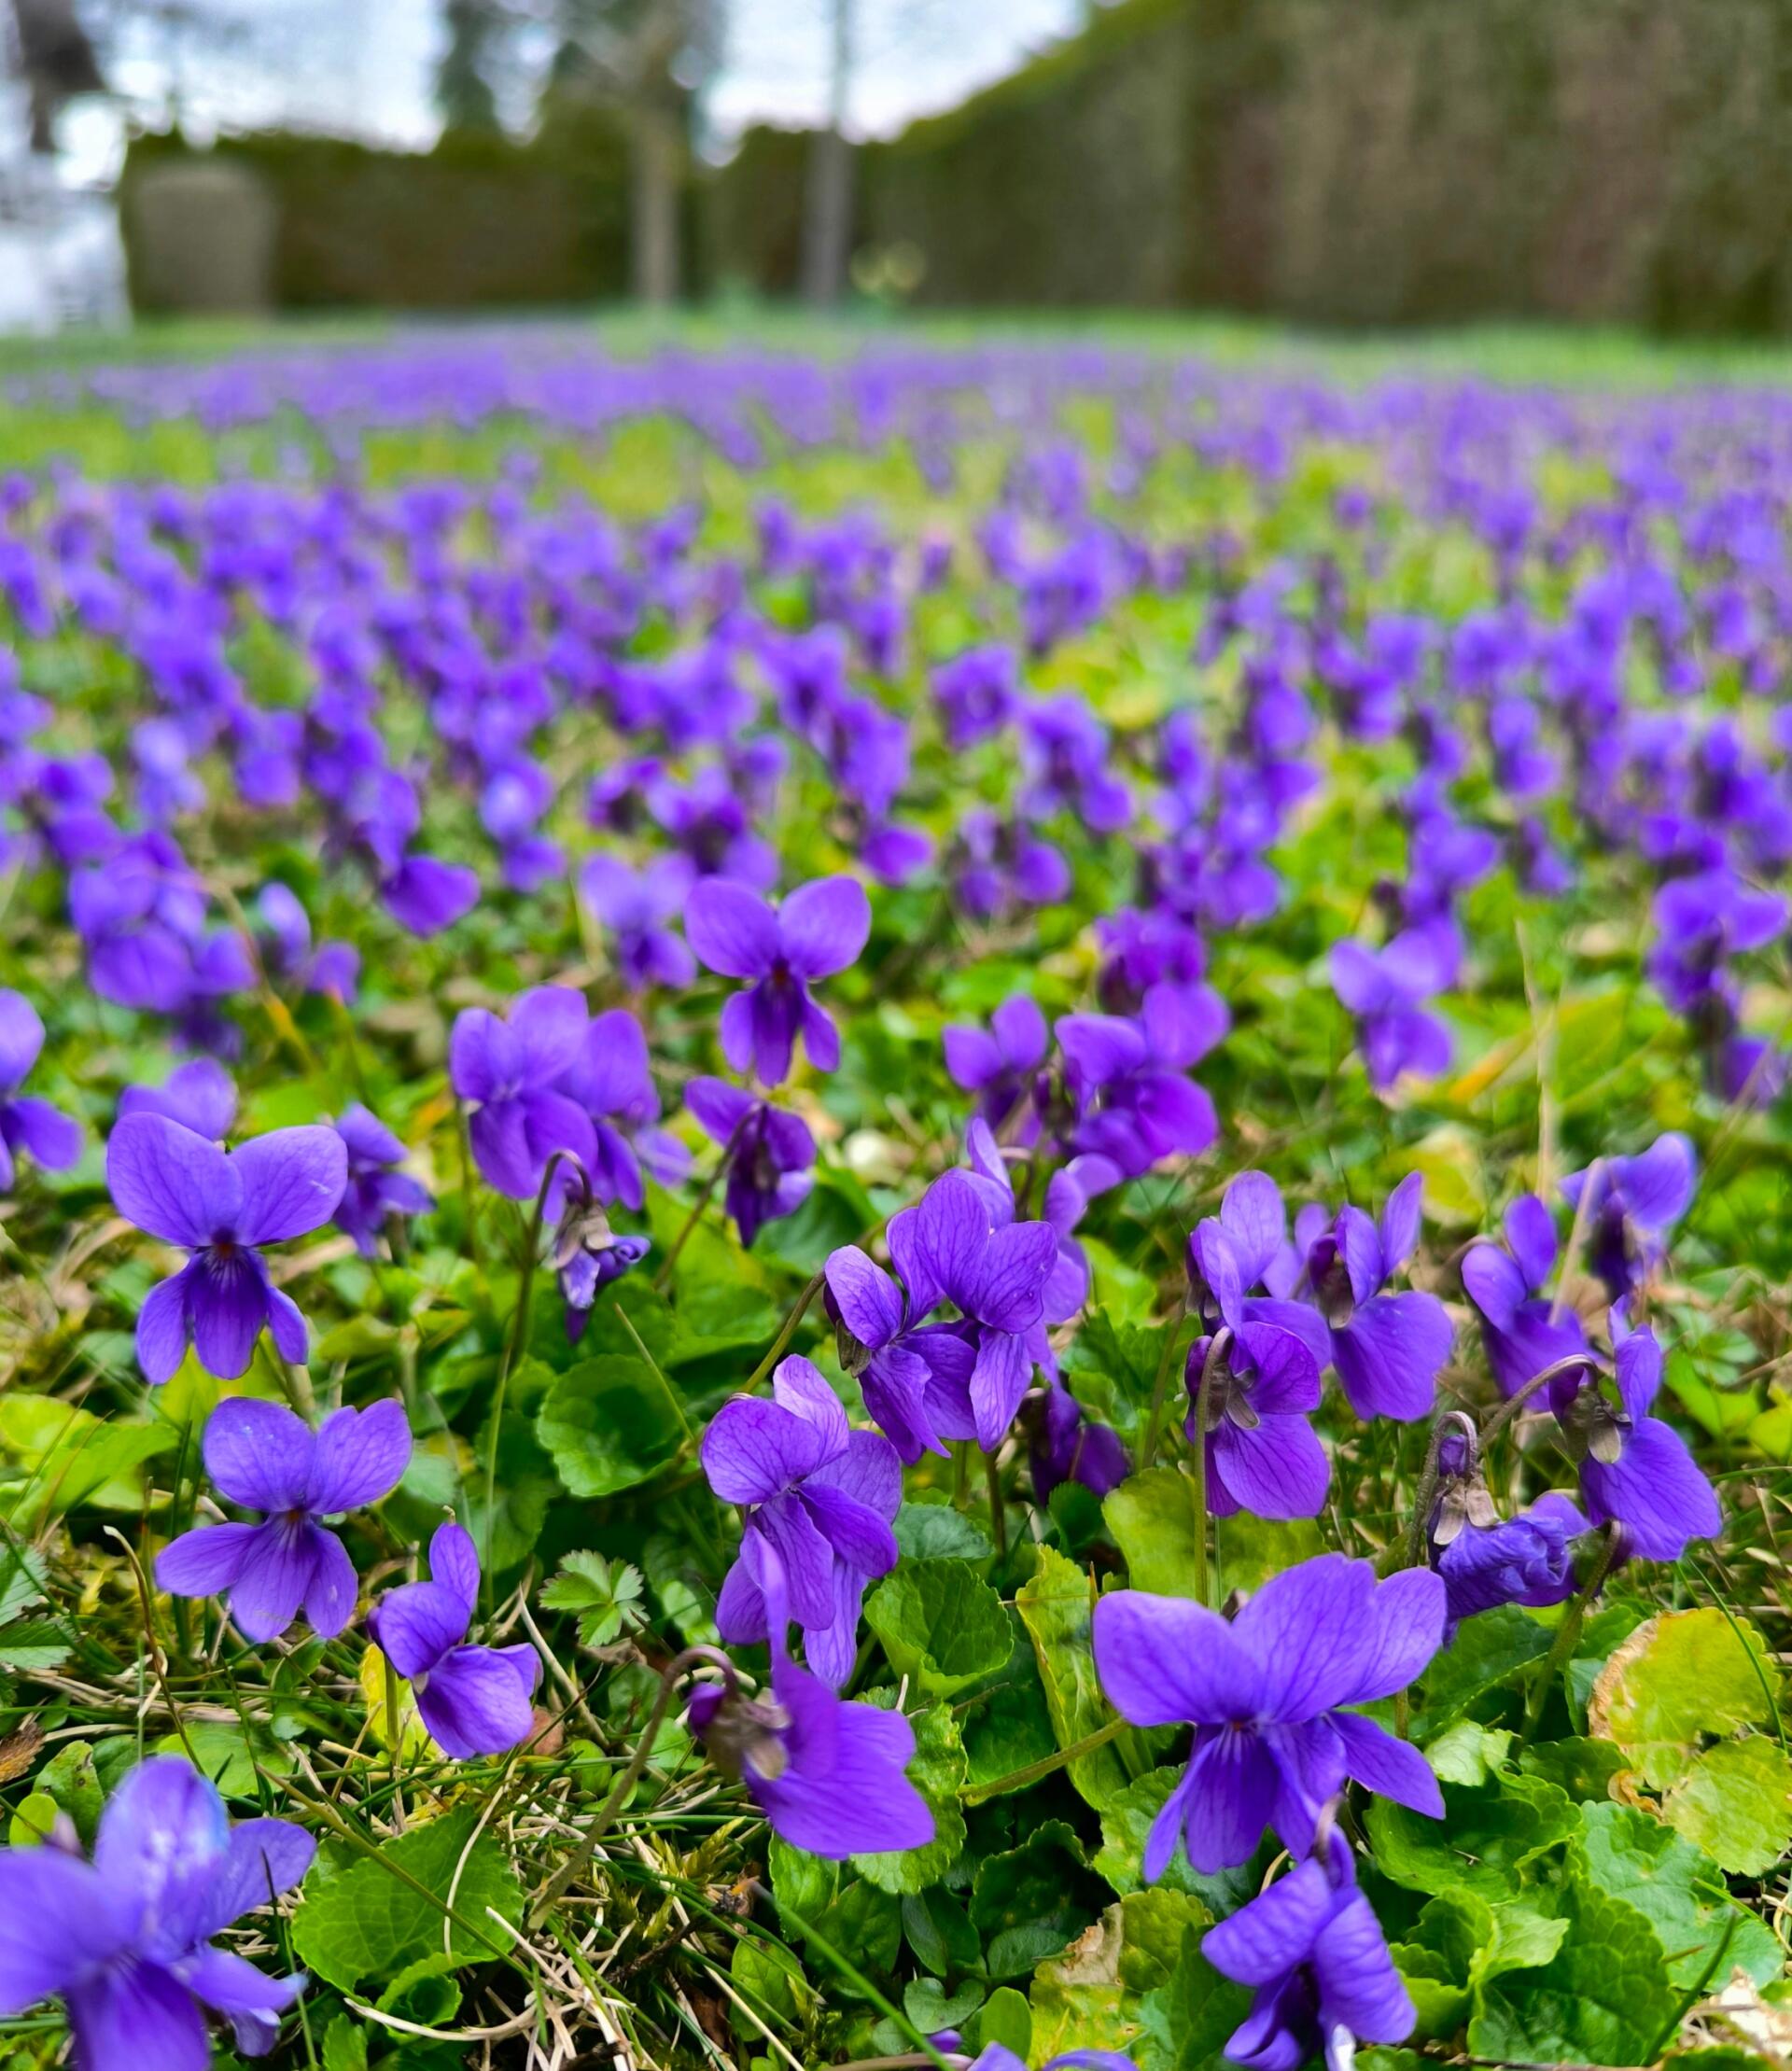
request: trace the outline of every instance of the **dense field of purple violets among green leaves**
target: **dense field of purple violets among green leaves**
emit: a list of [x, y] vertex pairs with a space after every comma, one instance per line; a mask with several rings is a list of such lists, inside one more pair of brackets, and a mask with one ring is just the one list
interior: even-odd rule
[[0, 425], [6, 2065], [1786, 2061], [1792, 402]]

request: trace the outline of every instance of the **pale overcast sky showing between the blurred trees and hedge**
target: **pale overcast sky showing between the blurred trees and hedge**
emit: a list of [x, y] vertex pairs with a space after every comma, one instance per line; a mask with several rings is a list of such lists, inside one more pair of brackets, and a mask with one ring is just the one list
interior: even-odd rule
[[[827, 0], [725, 0], [727, 58], [711, 91], [719, 139], [754, 120], [816, 120], [827, 104]], [[238, 25], [184, 50], [122, 29], [108, 54], [114, 85], [166, 108], [170, 87], [197, 130], [294, 122], [358, 137], [427, 143], [439, 0], [209, 0]], [[1073, 29], [1086, 0], [858, 0], [860, 62], [851, 124], [887, 135], [949, 108]], [[64, 118], [73, 170], [104, 176], [120, 118], [99, 104]]]

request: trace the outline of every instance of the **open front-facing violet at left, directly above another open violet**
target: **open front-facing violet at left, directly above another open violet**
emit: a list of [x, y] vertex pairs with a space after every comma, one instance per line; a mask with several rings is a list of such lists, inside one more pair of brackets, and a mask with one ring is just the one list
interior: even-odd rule
[[305, 1317], [269, 1280], [261, 1245], [336, 1214], [348, 1149], [334, 1129], [276, 1129], [224, 1151], [166, 1114], [126, 1114], [106, 1145], [106, 1185], [120, 1216], [191, 1253], [137, 1315], [147, 1381], [170, 1379], [189, 1344], [207, 1373], [234, 1381], [263, 1325], [282, 1359], [305, 1361]]

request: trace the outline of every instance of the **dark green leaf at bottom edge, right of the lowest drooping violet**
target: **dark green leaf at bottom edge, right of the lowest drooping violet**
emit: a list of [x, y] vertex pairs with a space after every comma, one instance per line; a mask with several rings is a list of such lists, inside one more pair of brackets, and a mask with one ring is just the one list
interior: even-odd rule
[[1560, 1907], [1568, 1932], [1554, 1957], [1481, 1988], [1471, 2052], [1506, 2063], [1653, 2063], [1680, 2009], [1659, 1936], [1635, 1905], [1583, 1876], [1564, 1883]]

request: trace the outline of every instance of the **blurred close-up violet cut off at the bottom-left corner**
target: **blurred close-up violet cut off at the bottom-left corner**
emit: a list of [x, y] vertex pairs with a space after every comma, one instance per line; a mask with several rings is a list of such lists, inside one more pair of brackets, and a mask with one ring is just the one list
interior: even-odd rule
[[292, 1891], [315, 1854], [284, 1818], [232, 1829], [178, 1754], [139, 1762], [106, 1800], [93, 1862], [58, 1841], [0, 1849], [0, 2017], [62, 1999], [79, 2071], [203, 2071], [207, 2009], [265, 2057], [305, 1976], [269, 1978], [213, 1936]]

